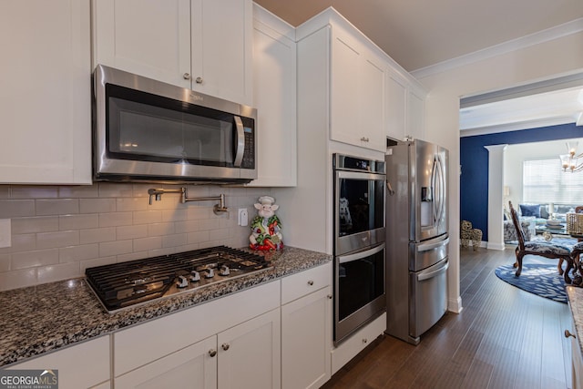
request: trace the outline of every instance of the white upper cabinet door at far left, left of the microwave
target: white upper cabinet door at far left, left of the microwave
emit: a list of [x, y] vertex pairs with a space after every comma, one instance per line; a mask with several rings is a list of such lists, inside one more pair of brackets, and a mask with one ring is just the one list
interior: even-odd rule
[[0, 2], [0, 183], [91, 183], [89, 11]]

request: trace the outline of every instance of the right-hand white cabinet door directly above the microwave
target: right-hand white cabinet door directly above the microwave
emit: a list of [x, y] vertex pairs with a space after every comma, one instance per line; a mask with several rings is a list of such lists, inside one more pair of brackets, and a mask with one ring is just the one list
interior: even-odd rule
[[192, 0], [192, 89], [252, 106], [251, 0]]

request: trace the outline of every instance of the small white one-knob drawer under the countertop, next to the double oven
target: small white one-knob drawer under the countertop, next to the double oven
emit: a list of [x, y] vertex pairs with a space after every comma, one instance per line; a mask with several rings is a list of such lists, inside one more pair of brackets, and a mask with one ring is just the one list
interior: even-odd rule
[[332, 283], [332, 262], [281, 279], [281, 304], [318, 291]]

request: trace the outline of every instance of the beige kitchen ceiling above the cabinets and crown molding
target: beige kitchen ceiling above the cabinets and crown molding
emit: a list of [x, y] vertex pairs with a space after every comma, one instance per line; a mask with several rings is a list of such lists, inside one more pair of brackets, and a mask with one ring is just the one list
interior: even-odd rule
[[409, 72], [583, 17], [582, 0], [254, 1], [292, 26], [333, 6]]

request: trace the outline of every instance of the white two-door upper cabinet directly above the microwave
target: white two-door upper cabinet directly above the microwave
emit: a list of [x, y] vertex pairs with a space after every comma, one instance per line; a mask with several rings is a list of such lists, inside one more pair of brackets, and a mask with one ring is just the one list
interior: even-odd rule
[[93, 2], [94, 63], [252, 105], [251, 0]]

